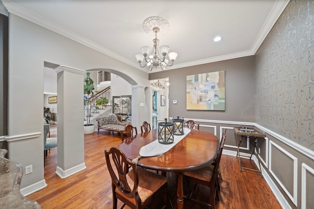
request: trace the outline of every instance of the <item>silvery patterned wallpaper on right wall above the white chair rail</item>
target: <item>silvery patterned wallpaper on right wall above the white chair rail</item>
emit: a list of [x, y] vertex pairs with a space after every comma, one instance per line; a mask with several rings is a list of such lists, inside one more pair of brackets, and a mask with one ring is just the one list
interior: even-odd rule
[[256, 53], [256, 123], [314, 151], [314, 0], [291, 0]]

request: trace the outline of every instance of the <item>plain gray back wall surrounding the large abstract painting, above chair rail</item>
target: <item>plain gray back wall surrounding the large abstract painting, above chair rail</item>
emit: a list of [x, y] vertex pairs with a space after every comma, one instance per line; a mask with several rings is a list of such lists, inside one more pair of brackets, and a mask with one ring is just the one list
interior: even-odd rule
[[[149, 80], [169, 77], [169, 116], [254, 122], [254, 57], [242, 57], [149, 74]], [[186, 110], [186, 75], [225, 71], [225, 111]], [[173, 104], [177, 100], [177, 104]]]

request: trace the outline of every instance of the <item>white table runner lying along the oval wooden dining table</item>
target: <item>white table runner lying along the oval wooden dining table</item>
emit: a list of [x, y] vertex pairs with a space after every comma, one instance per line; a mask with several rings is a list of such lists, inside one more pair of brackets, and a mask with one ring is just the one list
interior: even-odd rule
[[179, 141], [181, 141], [188, 133], [190, 133], [190, 129], [185, 128], [184, 134], [181, 136], [174, 136], [173, 143], [171, 144], [161, 144], [158, 142], [158, 139], [146, 144], [145, 146], [142, 146], [139, 150], [140, 157], [153, 157], [153, 156], [159, 156], [170, 150], [172, 147], [174, 147]]

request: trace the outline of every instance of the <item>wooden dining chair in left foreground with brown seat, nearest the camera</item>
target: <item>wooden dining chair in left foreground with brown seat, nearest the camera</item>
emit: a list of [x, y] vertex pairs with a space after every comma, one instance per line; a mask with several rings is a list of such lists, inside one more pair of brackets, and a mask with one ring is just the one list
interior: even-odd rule
[[137, 167], [120, 148], [111, 147], [109, 151], [105, 150], [105, 159], [112, 180], [113, 209], [117, 208], [118, 199], [124, 203], [123, 207], [127, 205], [131, 209], [144, 209], [159, 197], [166, 207], [165, 177]]

